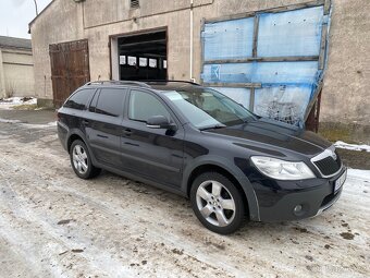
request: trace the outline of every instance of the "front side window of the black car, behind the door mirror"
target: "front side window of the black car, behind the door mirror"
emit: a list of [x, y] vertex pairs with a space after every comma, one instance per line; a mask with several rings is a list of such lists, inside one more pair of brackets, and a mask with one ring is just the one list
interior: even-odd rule
[[133, 89], [130, 96], [128, 118], [146, 122], [152, 116], [164, 116], [171, 119], [169, 111], [155, 96]]

